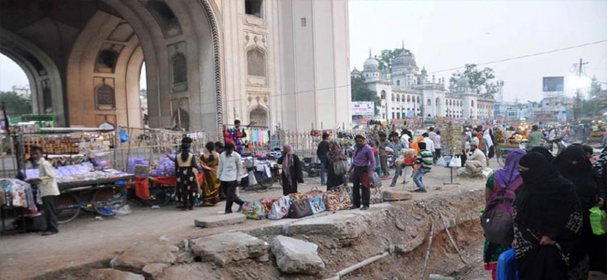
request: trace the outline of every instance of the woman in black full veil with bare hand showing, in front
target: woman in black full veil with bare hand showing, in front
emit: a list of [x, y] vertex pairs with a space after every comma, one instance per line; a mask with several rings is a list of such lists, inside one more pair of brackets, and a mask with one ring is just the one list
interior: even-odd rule
[[521, 280], [565, 280], [569, 253], [582, 228], [575, 186], [546, 157], [530, 152], [518, 170], [523, 186], [514, 202], [514, 249]]

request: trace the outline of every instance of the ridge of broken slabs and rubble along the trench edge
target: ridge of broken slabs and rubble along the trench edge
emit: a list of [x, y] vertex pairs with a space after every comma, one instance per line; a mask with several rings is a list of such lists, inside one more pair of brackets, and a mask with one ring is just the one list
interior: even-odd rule
[[[391, 191], [385, 197], [401, 200], [410, 194]], [[247, 231], [200, 236], [178, 246], [138, 242], [111, 261], [114, 269], [90, 271], [91, 279], [339, 278], [339, 271], [371, 256], [389, 252], [387, 259], [408, 258], [425, 246], [430, 225], [436, 232], [443, 229], [443, 217], [445, 227], [453, 228], [478, 219], [482, 200], [481, 191], [459, 190], [421, 201], [379, 203], [371, 211], [282, 219]], [[240, 219], [213, 217], [205, 225]]]

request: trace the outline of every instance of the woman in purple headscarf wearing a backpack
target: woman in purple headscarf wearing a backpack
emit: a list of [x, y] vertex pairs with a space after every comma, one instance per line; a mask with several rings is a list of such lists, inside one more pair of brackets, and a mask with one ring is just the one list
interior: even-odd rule
[[[489, 178], [485, 184], [485, 208], [492, 202], [493, 194], [500, 188], [511, 188], [518, 192], [519, 187], [523, 184], [523, 178], [518, 171], [518, 162], [525, 155], [523, 149], [512, 149], [506, 157], [506, 164], [503, 168], [498, 169]], [[514, 203], [514, 201], [512, 202]], [[510, 213], [512, 214], [512, 213]], [[483, 259], [485, 270], [491, 270], [491, 277], [495, 280], [495, 271], [497, 270], [497, 260], [500, 254], [512, 248], [511, 244], [496, 244], [485, 240]]]

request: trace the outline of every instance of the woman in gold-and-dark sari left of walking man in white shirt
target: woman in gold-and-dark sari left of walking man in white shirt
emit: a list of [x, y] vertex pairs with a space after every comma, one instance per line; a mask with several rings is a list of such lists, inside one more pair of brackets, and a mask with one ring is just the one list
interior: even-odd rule
[[202, 180], [202, 206], [211, 207], [219, 202], [219, 183], [217, 183], [217, 166], [219, 154], [215, 151], [215, 143], [205, 145], [206, 152], [200, 156], [205, 178]]

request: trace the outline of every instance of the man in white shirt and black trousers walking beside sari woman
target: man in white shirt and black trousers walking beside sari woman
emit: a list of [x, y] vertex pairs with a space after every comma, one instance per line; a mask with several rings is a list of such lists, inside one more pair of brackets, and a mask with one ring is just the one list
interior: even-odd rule
[[224, 152], [219, 156], [219, 167], [217, 168], [217, 181], [221, 183], [221, 188], [226, 193], [225, 213], [232, 213], [232, 203], [236, 202], [240, 207], [236, 211], [242, 211], [243, 201], [236, 195], [236, 187], [240, 185], [242, 176], [242, 162], [240, 154], [234, 151], [234, 144], [226, 143]]

